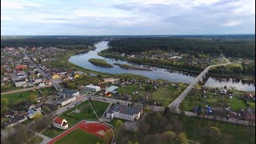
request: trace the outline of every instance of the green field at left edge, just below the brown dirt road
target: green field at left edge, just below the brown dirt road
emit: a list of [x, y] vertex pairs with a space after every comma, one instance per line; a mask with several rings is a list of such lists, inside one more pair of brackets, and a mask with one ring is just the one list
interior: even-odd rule
[[7, 98], [9, 100], [10, 105], [14, 105], [15, 103], [22, 102], [28, 99], [30, 97], [30, 94], [38, 95], [38, 90], [28, 90], [18, 93], [4, 94], [1, 95], [1, 98]]

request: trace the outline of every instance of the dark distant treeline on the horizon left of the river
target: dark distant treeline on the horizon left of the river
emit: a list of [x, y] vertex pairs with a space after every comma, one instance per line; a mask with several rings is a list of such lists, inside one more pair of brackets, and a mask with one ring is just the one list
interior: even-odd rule
[[1, 47], [6, 46], [58, 46], [60, 48], [84, 49], [98, 42], [100, 38], [90, 37], [32, 37], [1, 39]]

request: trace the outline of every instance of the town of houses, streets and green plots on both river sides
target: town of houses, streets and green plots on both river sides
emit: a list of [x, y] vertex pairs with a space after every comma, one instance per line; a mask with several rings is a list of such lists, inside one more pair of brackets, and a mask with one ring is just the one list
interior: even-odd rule
[[[35, 133], [33, 138], [36, 141], [58, 142], [58, 134], [70, 130], [72, 126], [82, 125], [81, 118], [91, 123], [103, 122], [102, 130], [105, 130], [103, 127], [116, 130], [118, 123], [138, 126], [140, 119], [152, 111], [166, 111], [166, 107], [188, 86], [128, 74], [99, 74], [54, 65], [65, 53], [66, 50], [52, 46], [1, 49], [2, 136], [7, 137], [7, 130], [11, 127], [33, 127], [38, 122], [46, 121], [45, 117], [48, 117], [46, 127], [34, 130], [42, 131], [46, 138]], [[162, 57], [162, 54], [150, 51], [138, 55], [120, 55], [171, 59], [174, 62], [186, 58], [184, 54], [173, 54]], [[221, 61], [216, 59], [216, 62]], [[195, 58], [193, 62], [201, 61]], [[209, 62], [205, 64], [207, 66]], [[254, 107], [254, 92], [197, 85], [179, 108], [182, 114], [190, 116], [234, 123], [249, 122], [247, 125], [250, 125], [255, 118]], [[98, 134], [98, 131], [90, 128], [84, 129]], [[116, 142], [116, 136], [112, 136], [106, 142]], [[98, 137], [105, 141], [104, 134]], [[96, 141], [102, 142], [98, 138]]]

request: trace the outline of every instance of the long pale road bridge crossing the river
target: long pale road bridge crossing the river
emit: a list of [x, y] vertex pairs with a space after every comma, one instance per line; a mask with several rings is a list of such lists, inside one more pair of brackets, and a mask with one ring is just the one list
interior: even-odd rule
[[[224, 58], [224, 57], [223, 57]], [[207, 66], [205, 70], [202, 71], [201, 74], [198, 75], [197, 78], [194, 79], [194, 81], [192, 83], [190, 83], [190, 86], [186, 87], [186, 90], [184, 90], [182, 92], [182, 94], [180, 94], [178, 96], [178, 98], [176, 98], [174, 100], [174, 102], [171, 102], [170, 105], [168, 107], [170, 107], [170, 109], [172, 110], [176, 110], [176, 112], [180, 113], [180, 110], [178, 109], [179, 104], [182, 102], [182, 100], [186, 97], [187, 94], [189, 94], [190, 90], [192, 90], [192, 88], [194, 88], [194, 86], [199, 82], [202, 81], [203, 78], [206, 78], [206, 74], [208, 73], [208, 71], [210, 70], [210, 68], [214, 67], [214, 66], [226, 66], [229, 65], [231, 62], [229, 60], [227, 60], [226, 58], [224, 58], [226, 60], [227, 63], [224, 64], [218, 64], [218, 65], [211, 65], [211, 66]]]

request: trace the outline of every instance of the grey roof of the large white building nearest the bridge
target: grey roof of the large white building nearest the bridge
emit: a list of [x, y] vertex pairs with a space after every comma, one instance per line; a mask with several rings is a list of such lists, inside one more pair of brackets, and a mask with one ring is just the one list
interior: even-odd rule
[[107, 113], [119, 112], [120, 114], [134, 115], [138, 114], [140, 111], [142, 111], [140, 107], [115, 105], [111, 107]]

